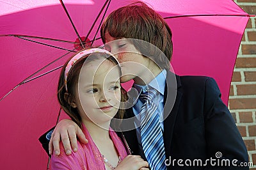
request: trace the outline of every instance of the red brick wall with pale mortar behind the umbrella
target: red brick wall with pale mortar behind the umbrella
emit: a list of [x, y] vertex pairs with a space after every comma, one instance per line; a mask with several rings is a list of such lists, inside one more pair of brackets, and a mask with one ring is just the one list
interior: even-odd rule
[[[256, 0], [234, 0], [249, 14], [256, 14]], [[246, 144], [250, 170], [256, 170], [256, 18], [251, 17], [237, 55], [230, 87], [229, 109]]]

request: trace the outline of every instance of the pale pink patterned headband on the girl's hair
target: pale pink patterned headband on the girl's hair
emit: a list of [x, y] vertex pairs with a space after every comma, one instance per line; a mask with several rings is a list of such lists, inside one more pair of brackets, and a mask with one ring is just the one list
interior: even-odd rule
[[[70, 61], [68, 62], [66, 68], [65, 68], [65, 77], [64, 77], [64, 81], [65, 81], [65, 88], [66, 91], [68, 91], [67, 88], [67, 77], [68, 77], [68, 73], [70, 72], [72, 66], [76, 63], [77, 60], [83, 58], [84, 56], [88, 55], [88, 54], [92, 54], [94, 52], [102, 52], [102, 53], [106, 53], [109, 54], [109, 56], [112, 56], [113, 58], [115, 58], [115, 56], [113, 56], [113, 54], [111, 54], [108, 50], [104, 50], [104, 49], [98, 49], [98, 48], [93, 48], [93, 49], [86, 49], [86, 50], [82, 50], [81, 52], [79, 52], [78, 54], [76, 54], [72, 59], [70, 59]], [[115, 58], [116, 59], [116, 58]], [[118, 62], [118, 60], [116, 59], [116, 61]]]

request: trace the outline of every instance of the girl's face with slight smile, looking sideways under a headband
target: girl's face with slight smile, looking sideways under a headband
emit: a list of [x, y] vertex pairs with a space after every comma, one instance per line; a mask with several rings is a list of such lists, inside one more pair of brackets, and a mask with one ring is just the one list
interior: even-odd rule
[[75, 97], [83, 122], [110, 122], [120, 106], [120, 88], [120, 71], [111, 61], [98, 59], [85, 63]]

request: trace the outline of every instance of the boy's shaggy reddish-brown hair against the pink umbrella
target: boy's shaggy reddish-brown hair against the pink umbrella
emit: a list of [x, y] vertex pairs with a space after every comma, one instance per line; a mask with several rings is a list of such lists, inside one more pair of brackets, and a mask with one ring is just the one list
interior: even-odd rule
[[106, 43], [106, 33], [114, 38], [139, 39], [153, 44], [151, 46], [156, 46], [161, 52], [155, 47], [141, 45], [140, 41], [132, 41], [141, 54], [152, 58], [161, 68], [170, 69], [169, 61], [173, 50], [172, 31], [163, 17], [147, 4], [136, 2], [110, 13], [100, 29], [104, 43]]

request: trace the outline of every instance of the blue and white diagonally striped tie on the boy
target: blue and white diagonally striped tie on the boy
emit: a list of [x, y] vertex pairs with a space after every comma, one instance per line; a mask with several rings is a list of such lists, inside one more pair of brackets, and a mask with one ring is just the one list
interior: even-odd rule
[[166, 169], [163, 132], [157, 113], [158, 98], [158, 92], [152, 88], [140, 95], [145, 102], [140, 111], [141, 144], [148, 164], [154, 170]]

